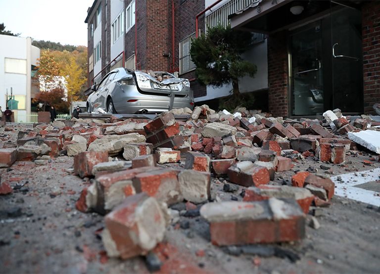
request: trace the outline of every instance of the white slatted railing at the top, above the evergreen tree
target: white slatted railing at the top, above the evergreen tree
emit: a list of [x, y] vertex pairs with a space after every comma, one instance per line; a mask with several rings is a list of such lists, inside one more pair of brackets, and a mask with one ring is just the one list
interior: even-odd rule
[[207, 33], [208, 28], [214, 28], [218, 25], [227, 27], [230, 24], [228, 16], [239, 10], [244, 9], [248, 5], [259, 0], [231, 0], [225, 3], [220, 8], [214, 10], [205, 17], [205, 32]]

